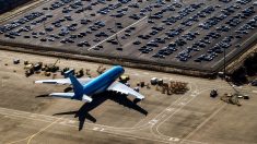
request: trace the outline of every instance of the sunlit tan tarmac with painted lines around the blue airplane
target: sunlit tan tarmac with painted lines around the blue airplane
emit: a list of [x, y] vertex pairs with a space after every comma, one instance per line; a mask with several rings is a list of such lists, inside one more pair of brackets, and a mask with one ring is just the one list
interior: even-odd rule
[[[21, 59], [13, 64], [13, 59]], [[93, 96], [91, 104], [47, 97], [63, 92], [67, 85], [38, 85], [40, 74], [25, 77], [23, 61], [54, 63], [52, 57], [0, 50], [0, 143], [1, 144], [75, 144], [75, 143], [182, 143], [182, 144], [256, 144], [257, 88], [235, 86], [249, 99], [242, 106], [220, 100], [233, 88], [224, 81], [207, 80], [125, 68], [131, 87], [151, 77], [188, 83], [189, 91], [166, 95], [140, 88], [145, 99], [132, 103], [131, 96], [106, 93]], [[7, 65], [5, 65], [7, 64]], [[60, 59], [60, 68], [91, 69], [97, 76], [98, 63]], [[112, 65], [104, 65], [110, 68]], [[57, 77], [61, 77], [57, 74]], [[217, 88], [219, 96], [209, 93]]]

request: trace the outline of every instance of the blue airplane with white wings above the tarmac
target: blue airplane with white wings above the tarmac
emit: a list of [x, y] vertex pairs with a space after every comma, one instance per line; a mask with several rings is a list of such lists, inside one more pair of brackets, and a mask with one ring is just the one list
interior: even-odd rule
[[35, 83], [72, 84], [73, 93], [51, 93], [49, 94], [51, 97], [70, 98], [91, 103], [93, 100], [91, 98], [92, 95], [100, 94], [105, 91], [113, 91], [126, 95], [132, 95], [137, 100], [142, 100], [144, 98], [143, 95], [116, 81], [116, 79], [118, 79], [124, 72], [125, 70], [122, 67], [115, 65], [95, 79], [77, 79], [73, 74], [69, 74], [69, 79], [42, 80], [35, 81]]

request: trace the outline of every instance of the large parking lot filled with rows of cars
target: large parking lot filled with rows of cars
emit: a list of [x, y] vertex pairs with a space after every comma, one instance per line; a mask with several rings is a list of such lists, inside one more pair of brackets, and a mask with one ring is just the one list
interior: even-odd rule
[[[217, 71], [248, 49], [254, 0], [54, 0], [3, 22], [0, 39], [57, 51]], [[36, 47], [35, 47], [36, 49]]]

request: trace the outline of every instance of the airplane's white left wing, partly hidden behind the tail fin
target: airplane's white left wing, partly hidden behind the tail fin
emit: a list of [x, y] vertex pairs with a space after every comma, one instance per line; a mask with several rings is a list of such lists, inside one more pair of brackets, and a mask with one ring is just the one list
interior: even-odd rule
[[[79, 79], [79, 82], [81, 84], [86, 84], [91, 81], [92, 79], [86, 77], [86, 79]], [[59, 84], [59, 85], [65, 85], [65, 84], [71, 84], [70, 79], [56, 79], [56, 80], [40, 80], [40, 81], [35, 81], [36, 84]]]

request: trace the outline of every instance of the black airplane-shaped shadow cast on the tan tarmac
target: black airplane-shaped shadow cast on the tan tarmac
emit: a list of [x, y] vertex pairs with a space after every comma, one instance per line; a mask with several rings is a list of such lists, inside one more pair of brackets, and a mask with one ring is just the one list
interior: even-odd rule
[[140, 113], [145, 115], [145, 116], [148, 115], [147, 110], [144, 110], [143, 108], [138, 106], [136, 103], [128, 99], [127, 95], [121, 95], [121, 94], [117, 94], [114, 92], [105, 92], [102, 94], [94, 95], [94, 96], [92, 96], [92, 98], [93, 98], [93, 101], [85, 103], [79, 110], [68, 111], [68, 112], [59, 112], [59, 113], [55, 113], [54, 116], [74, 115], [74, 118], [79, 119], [79, 131], [81, 131], [83, 129], [85, 119], [87, 119], [92, 122], [96, 122], [96, 119], [92, 115], [90, 115], [89, 112], [91, 110], [93, 110], [94, 108], [96, 108], [97, 106], [100, 106], [101, 104], [103, 104], [107, 99], [110, 99], [119, 105], [125, 106], [125, 107], [131, 108]]

